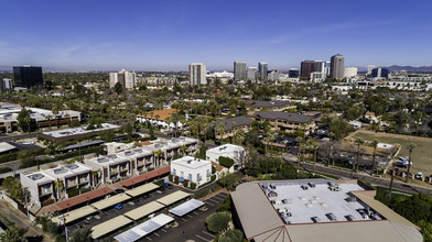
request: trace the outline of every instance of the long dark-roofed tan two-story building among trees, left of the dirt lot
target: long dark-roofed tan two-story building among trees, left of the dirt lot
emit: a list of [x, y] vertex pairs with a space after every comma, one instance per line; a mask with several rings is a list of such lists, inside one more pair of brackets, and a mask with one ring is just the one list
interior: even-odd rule
[[268, 121], [276, 130], [293, 133], [304, 131], [310, 134], [315, 130], [315, 122], [312, 117], [290, 112], [260, 111], [255, 113], [255, 119], [259, 122]]

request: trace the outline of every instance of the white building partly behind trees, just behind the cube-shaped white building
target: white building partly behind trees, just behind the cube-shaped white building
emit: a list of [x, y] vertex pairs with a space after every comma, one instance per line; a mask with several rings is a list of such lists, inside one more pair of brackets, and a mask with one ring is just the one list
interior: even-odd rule
[[[219, 157], [228, 157], [234, 160], [234, 164], [241, 165], [246, 162], [247, 153], [242, 146], [235, 144], [224, 144], [206, 151], [206, 160], [219, 164]], [[230, 169], [230, 172], [233, 172]]]

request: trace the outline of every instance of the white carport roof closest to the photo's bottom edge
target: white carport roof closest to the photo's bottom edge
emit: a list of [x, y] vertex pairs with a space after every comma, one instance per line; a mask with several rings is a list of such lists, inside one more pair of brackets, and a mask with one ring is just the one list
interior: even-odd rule
[[139, 226], [133, 227], [130, 230], [127, 230], [118, 235], [116, 235], [114, 239], [116, 239], [119, 242], [132, 242], [137, 241], [151, 232], [162, 228], [163, 226], [174, 221], [173, 218], [166, 215], [159, 215]]

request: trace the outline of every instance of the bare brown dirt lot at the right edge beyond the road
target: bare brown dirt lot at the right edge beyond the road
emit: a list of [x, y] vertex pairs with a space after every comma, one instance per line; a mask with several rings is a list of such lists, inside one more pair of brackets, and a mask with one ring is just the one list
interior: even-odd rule
[[365, 141], [378, 140], [382, 143], [400, 144], [402, 146], [402, 150], [400, 151], [399, 156], [408, 156], [409, 151], [407, 150], [407, 145], [410, 143], [414, 143], [417, 146], [412, 152], [412, 173], [422, 172], [423, 175], [426, 176], [432, 174], [432, 139], [391, 133], [375, 133], [371, 131], [364, 130], [352, 133], [348, 139], [349, 138], [361, 138]]

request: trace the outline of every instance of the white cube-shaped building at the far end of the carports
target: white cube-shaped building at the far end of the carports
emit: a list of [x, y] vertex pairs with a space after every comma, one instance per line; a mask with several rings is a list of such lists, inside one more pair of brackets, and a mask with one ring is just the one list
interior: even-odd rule
[[210, 180], [212, 163], [192, 156], [174, 160], [171, 163], [171, 174], [196, 183], [197, 186]]

